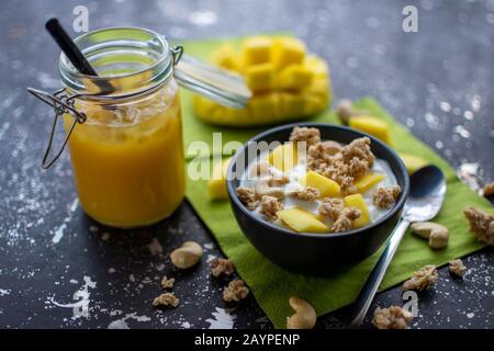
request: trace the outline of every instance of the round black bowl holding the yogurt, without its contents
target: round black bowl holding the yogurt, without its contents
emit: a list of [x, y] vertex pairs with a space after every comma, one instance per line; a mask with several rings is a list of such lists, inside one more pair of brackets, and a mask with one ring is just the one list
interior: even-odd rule
[[[316, 127], [321, 138], [349, 144], [367, 136], [375, 157], [386, 160], [394, 172], [402, 193], [393, 210], [371, 225], [341, 234], [295, 233], [262, 220], [238, 200], [235, 190], [239, 180], [233, 177], [237, 160], [246, 158], [251, 141], [287, 141], [295, 126]], [[297, 273], [327, 276], [345, 271], [374, 253], [388, 239], [397, 224], [408, 195], [408, 174], [400, 156], [379, 139], [352, 128], [324, 123], [296, 123], [274, 127], [259, 134], [244, 145], [236, 154], [227, 172], [227, 189], [233, 212], [238, 225], [250, 242], [276, 264]]]

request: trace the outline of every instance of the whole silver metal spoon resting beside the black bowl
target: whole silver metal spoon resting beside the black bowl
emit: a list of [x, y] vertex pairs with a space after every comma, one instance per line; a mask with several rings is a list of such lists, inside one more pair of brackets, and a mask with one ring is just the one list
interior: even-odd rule
[[350, 319], [348, 328], [359, 328], [362, 324], [384, 273], [409, 224], [433, 219], [441, 208], [445, 194], [445, 176], [436, 166], [424, 167], [412, 174], [409, 196], [405, 203], [402, 219], [391, 235], [386, 248], [357, 297], [353, 305], [355, 315]]

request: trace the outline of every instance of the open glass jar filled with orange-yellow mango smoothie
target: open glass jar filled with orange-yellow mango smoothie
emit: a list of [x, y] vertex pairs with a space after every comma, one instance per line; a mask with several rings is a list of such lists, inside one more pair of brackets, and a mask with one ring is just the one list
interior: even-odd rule
[[[175, 55], [142, 29], [108, 29], [76, 39], [98, 77], [80, 75], [61, 54], [74, 107], [86, 115], [69, 137], [79, 201], [96, 220], [145, 226], [168, 217], [184, 196], [184, 157]], [[74, 116], [64, 122], [70, 131]]]

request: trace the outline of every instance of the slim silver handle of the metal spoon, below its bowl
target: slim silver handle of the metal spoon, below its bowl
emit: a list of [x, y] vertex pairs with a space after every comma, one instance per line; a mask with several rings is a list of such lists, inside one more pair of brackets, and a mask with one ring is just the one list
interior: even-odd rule
[[374, 295], [379, 288], [379, 285], [384, 278], [384, 273], [386, 272], [388, 267], [390, 265], [391, 260], [393, 259], [393, 256], [400, 245], [400, 241], [402, 241], [408, 226], [409, 222], [402, 218], [400, 224], [391, 235], [388, 246], [379, 258], [378, 263], [370, 273], [366, 284], [363, 285], [359, 296], [356, 299], [353, 309], [355, 316], [353, 319], [351, 319], [351, 321], [349, 322], [348, 328], [357, 329], [361, 326], [363, 318], [366, 317], [372, 299], [374, 298]]

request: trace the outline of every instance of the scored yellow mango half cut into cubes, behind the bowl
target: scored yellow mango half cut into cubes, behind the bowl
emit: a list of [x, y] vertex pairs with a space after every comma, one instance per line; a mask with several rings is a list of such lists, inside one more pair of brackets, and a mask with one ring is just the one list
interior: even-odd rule
[[239, 53], [225, 44], [210, 56], [218, 67], [244, 75], [252, 92], [243, 112], [233, 112], [206, 98], [194, 95], [194, 114], [200, 120], [227, 126], [254, 126], [307, 117], [327, 109], [332, 102], [326, 63], [305, 55], [304, 44], [285, 36], [252, 36]]

